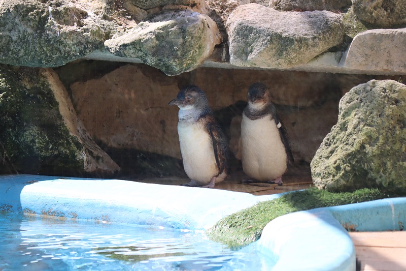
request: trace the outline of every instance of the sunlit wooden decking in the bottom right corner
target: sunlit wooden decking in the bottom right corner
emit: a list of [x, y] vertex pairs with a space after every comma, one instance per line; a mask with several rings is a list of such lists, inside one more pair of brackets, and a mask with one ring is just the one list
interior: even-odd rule
[[406, 270], [406, 231], [350, 232], [350, 235], [360, 270]]

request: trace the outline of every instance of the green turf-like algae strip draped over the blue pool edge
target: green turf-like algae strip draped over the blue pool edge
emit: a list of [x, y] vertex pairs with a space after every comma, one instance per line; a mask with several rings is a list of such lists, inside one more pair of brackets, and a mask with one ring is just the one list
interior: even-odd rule
[[265, 225], [277, 217], [319, 207], [329, 207], [398, 196], [378, 189], [333, 193], [310, 188], [260, 202], [218, 221], [207, 234], [215, 242], [231, 248], [246, 246], [259, 239]]

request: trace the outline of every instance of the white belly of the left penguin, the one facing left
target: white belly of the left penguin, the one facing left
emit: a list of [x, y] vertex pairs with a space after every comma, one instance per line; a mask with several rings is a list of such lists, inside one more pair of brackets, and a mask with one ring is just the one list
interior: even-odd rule
[[186, 174], [197, 183], [208, 185], [218, 174], [210, 134], [199, 122], [179, 122], [178, 134]]

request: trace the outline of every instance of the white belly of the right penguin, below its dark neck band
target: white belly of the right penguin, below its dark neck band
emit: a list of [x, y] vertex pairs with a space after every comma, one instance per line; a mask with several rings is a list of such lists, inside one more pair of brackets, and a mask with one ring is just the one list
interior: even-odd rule
[[244, 172], [257, 180], [274, 180], [287, 169], [287, 155], [275, 120], [269, 116], [251, 120], [243, 115], [241, 123]]

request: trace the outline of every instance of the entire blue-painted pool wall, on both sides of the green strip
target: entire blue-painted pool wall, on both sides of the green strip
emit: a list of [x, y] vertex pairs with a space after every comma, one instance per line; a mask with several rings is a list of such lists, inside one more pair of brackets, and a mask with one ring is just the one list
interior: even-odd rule
[[[114, 179], [0, 176], [0, 211], [204, 231], [218, 220], [279, 195], [253, 196]], [[352, 230], [399, 230], [406, 198], [318, 208], [269, 222], [257, 248], [272, 270], [355, 270]]]

